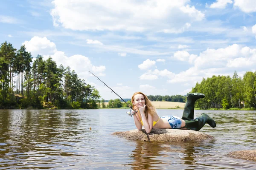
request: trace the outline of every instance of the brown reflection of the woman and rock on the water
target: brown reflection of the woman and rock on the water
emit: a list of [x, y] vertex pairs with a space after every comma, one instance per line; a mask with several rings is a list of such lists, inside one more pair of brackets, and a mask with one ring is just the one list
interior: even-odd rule
[[[185, 167], [185, 169], [192, 170], [196, 168], [197, 164], [195, 154], [198, 157], [204, 157], [208, 154], [202, 154], [200, 152], [206, 148], [207, 150], [211, 149], [204, 142], [137, 141], [135, 147], [130, 155], [132, 161], [128, 164], [132, 169], [163, 169], [166, 166], [172, 165], [177, 167], [177, 169], [183, 169]], [[195, 148], [197, 149], [195, 150]]]

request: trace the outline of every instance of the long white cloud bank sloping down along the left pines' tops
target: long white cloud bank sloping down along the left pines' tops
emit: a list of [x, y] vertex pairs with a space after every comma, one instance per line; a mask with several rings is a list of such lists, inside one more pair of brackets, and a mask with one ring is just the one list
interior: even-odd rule
[[105, 66], [93, 65], [88, 57], [79, 54], [67, 57], [63, 51], [58, 51], [55, 43], [48, 40], [47, 37], [32, 37], [31, 40], [25, 41], [23, 44], [33, 57], [40, 54], [44, 59], [48, 59], [50, 55], [57, 65], [69, 66], [81, 78], [87, 77], [88, 71], [96, 72], [97, 75], [105, 75], [103, 73], [106, 69]]

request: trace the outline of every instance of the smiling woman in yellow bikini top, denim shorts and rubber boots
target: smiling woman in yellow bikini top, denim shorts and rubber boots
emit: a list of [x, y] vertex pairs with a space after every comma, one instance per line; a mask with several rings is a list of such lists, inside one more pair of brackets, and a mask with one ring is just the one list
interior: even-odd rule
[[187, 94], [187, 102], [183, 111], [182, 118], [177, 116], [162, 116], [157, 115], [156, 109], [152, 105], [148, 97], [142, 92], [136, 92], [131, 97], [134, 110], [134, 122], [136, 127], [141, 130], [144, 126], [147, 133], [152, 129], [190, 129], [200, 130], [206, 123], [211, 127], [216, 126], [216, 122], [207, 114], [203, 113], [198, 118], [194, 119], [194, 106], [195, 101], [204, 98], [201, 93]]

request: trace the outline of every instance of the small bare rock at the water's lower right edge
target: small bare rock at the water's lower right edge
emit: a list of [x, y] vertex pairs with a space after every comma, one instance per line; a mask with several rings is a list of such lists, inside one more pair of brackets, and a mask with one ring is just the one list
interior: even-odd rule
[[245, 159], [256, 161], [256, 150], [239, 150], [227, 154], [231, 158]]

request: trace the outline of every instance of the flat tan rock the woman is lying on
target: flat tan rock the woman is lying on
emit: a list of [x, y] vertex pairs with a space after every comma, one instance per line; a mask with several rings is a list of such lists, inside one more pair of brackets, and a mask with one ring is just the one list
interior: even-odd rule
[[152, 129], [150, 133], [145, 130], [129, 130], [125, 132], [114, 132], [113, 135], [125, 139], [140, 141], [159, 141], [159, 142], [186, 142], [186, 141], [203, 141], [213, 137], [195, 130], [180, 129]]

